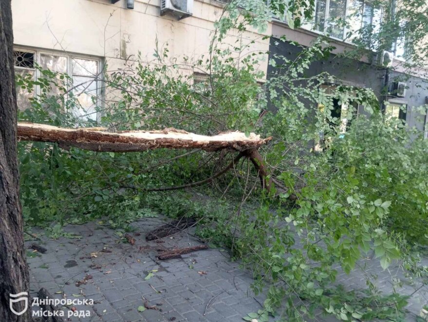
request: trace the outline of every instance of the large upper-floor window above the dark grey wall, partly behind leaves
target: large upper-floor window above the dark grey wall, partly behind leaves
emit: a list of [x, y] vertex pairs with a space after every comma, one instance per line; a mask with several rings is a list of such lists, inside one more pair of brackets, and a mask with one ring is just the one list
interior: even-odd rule
[[381, 19], [382, 9], [367, 0], [316, 0], [313, 21], [302, 24], [302, 27], [328, 32], [341, 40], [353, 39], [364, 27], [371, 26], [373, 32], [378, 32]]

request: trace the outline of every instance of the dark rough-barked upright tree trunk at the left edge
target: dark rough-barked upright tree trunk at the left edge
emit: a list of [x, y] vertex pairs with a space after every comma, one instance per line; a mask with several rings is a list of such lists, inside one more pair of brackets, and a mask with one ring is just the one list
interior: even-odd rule
[[[31, 321], [31, 309], [16, 315], [9, 308], [9, 294], [29, 290], [19, 204], [17, 101], [13, 66], [11, 1], [0, 0], [0, 321], [27, 322]], [[24, 301], [14, 303], [13, 307], [17, 312], [22, 311]]]

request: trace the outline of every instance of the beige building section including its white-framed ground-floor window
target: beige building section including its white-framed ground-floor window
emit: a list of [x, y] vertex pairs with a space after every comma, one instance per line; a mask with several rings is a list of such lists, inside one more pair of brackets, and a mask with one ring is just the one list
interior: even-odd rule
[[[15, 71], [30, 73], [37, 79], [38, 64], [43, 69], [68, 73], [73, 85], [83, 84], [74, 93], [92, 119], [97, 117], [93, 111], [94, 97], [105, 95], [97, 81], [104, 65], [108, 71], [123, 70], [138, 59], [138, 54], [143, 61], [153, 61], [159, 46], [167, 47], [169, 57], [176, 58], [182, 73], [197, 73], [201, 77], [201, 71], [193, 70], [186, 57], [196, 60], [209, 56], [214, 23], [222, 15], [224, 3], [171, 1], [177, 6], [191, 4], [187, 9], [192, 15], [161, 12], [165, 0], [14, 0]], [[270, 35], [270, 25], [263, 34], [230, 30], [224, 42], [234, 44], [238, 40], [245, 47], [241, 55], [267, 52], [269, 39], [263, 36]], [[267, 55], [259, 61], [257, 68], [265, 72]], [[37, 95], [39, 89], [32, 93], [18, 90], [19, 108], [25, 109], [28, 98]]]

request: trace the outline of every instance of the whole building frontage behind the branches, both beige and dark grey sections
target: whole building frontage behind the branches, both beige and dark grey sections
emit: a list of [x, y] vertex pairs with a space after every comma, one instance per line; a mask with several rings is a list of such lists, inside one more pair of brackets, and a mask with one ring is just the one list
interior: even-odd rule
[[[171, 4], [180, 10], [162, 10]], [[201, 77], [200, 71], [186, 66], [184, 57], [208, 54], [214, 23], [221, 17], [223, 8], [224, 3], [216, 0], [13, 0], [16, 72], [29, 73], [37, 79], [39, 72], [35, 65], [38, 64], [68, 73], [76, 85], [74, 91], [79, 93], [80, 104], [90, 111], [93, 98], [105, 94], [98, 82], [103, 66], [107, 64], [109, 70], [120, 70], [135, 61], [139, 53], [150, 61], [156, 44], [167, 46], [169, 55], [178, 57], [178, 63], [182, 59], [181, 72]], [[186, 14], [187, 11], [191, 15]], [[335, 25], [329, 20], [331, 17], [352, 17], [351, 27]], [[404, 39], [395, 42], [394, 64], [389, 69], [379, 68], [366, 58], [355, 61], [335, 56], [352, 47], [349, 41], [356, 30], [367, 25], [376, 30], [382, 18], [382, 9], [370, 1], [317, 0], [314, 19], [302, 28], [291, 29], [287, 23], [274, 18], [263, 33], [249, 30], [241, 34], [231, 30], [224, 41], [233, 44], [239, 40], [247, 44], [247, 53], [269, 51], [271, 56], [262, 57], [258, 66], [269, 77], [275, 72], [268, 65], [270, 58], [275, 54], [297, 55], [300, 49], [291, 41], [309, 46], [329, 28], [336, 49], [325, 61], [313, 63], [309, 73], [329, 72], [348, 85], [371, 88], [381, 103], [387, 102], [386, 112], [424, 131], [427, 116], [421, 118], [413, 112], [413, 107], [428, 102], [424, 79], [428, 78], [428, 72], [419, 71], [418, 76], [404, 74]], [[284, 35], [290, 42], [277, 41]], [[406, 80], [399, 82], [400, 78]], [[385, 94], [386, 86], [391, 95]], [[28, 97], [35, 94], [37, 89], [33, 93], [19, 89], [19, 108], [25, 109]], [[400, 111], [402, 105], [407, 111]], [[97, 117], [95, 112], [89, 115], [92, 119]]]

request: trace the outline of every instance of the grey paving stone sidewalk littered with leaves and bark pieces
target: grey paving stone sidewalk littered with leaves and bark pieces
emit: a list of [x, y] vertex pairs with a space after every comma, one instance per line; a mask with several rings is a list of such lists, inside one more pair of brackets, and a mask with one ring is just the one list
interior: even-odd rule
[[[159, 250], [201, 244], [185, 232], [146, 242], [146, 233], [165, 222], [166, 218], [159, 217], [132, 223], [136, 230], [129, 235], [135, 239], [134, 245], [121, 242], [114, 230], [99, 221], [65, 227], [66, 232], [81, 235], [79, 239], [43, 237], [39, 244], [47, 252], [28, 258], [31, 296], [37, 296], [39, 288], [44, 287], [57, 299], [93, 299], [93, 306], [75, 307], [89, 310], [90, 317], [65, 319], [82, 322], [234, 322], [243, 321], [247, 313], [261, 308], [263, 296], [254, 297], [250, 272], [231, 262], [222, 249], [157, 260]], [[27, 246], [32, 243], [27, 242]], [[389, 292], [393, 287], [391, 275], [405, 280], [395, 267], [383, 271], [379, 261], [370, 256], [359, 265], [363, 269], [350, 275], [339, 273], [337, 282], [356, 289], [365, 287], [365, 277], [379, 275], [373, 282]], [[85, 281], [88, 275], [92, 278]], [[76, 284], [79, 281], [86, 284]], [[415, 321], [415, 315], [428, 304], [428, 287], [419, 286], [418, 281], [399, 286], [403, 294], [412, 294], [408, 321]], [[145, 305], [153, 309], [139, 312], [138, 307]], [[337, 320], [319, 316], [314, 321]]]

